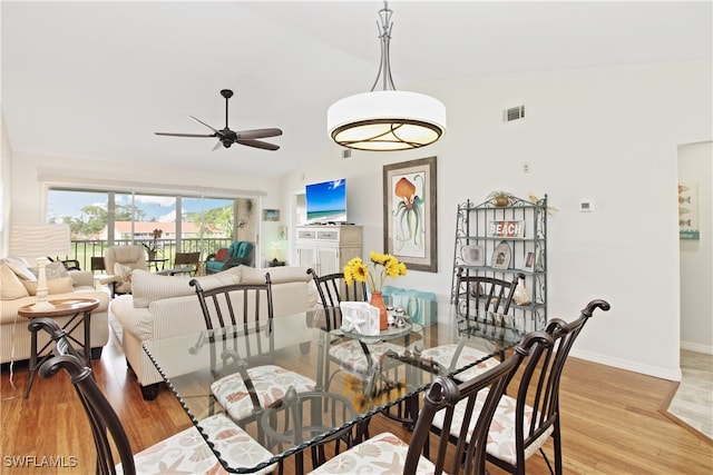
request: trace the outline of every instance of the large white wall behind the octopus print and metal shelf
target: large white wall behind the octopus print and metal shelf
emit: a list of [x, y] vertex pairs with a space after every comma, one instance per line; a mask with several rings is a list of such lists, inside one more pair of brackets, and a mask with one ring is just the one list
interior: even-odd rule
[[[346, 177], [349, 220], [364, 227], [368, 256], [383, 247], [382, 166], [437, 156], [439, 271], [411, 271], [395, 285], [443, 296], [459, 202], [496, 189], [548, 194], [558, 208], [548, 222], [549, 316], [573, 319], [594, 298], [612, 304], [588, 324], [573, 355], [677, 380], [676, 147], [711, 140], [712, 85], [711, 62], [419, 85], [411, 89], [446, 103], [442, 140], [408, 152], [354, 151], [349, 159], [325, 144], [284, 189]], [[502, 109], [521, 103], [525, 120], [502, 123]], [[592, 200], [594, 212], [578, 212], [580, 199]]]

